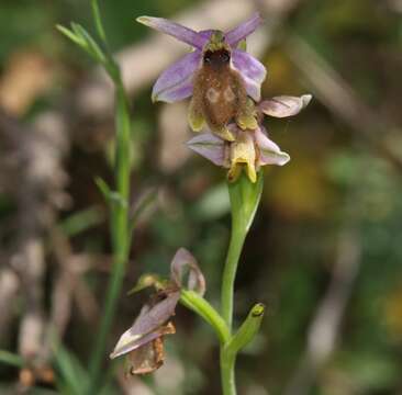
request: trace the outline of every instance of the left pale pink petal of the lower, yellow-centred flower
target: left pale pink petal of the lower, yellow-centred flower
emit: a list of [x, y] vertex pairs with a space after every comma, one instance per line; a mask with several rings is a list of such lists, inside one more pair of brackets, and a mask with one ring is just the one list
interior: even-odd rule
[[187, 145], [214, 165], [224, 166], [225, 144], [222, 138], [216, 137], [212, 133], [202, 133], [187, 142]]

